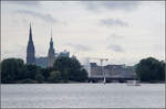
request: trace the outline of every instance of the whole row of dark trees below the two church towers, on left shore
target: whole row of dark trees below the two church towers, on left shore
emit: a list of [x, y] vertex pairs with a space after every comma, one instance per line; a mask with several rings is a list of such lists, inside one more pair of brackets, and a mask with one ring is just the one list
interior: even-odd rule
[[85, 81], [87, 72], [76, 58], [58, 57], [53, 67], [27, 65], [20, 58], [7, 58], [1, 63], [1, 83], [35, 84]]

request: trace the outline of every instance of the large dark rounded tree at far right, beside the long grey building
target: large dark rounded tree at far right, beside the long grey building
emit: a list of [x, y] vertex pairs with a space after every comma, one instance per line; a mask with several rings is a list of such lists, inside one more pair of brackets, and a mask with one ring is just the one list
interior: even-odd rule
[[142, 81], [154, 81], [165, 79], [165, 64], [148, 57], [136, 65], [136, 74]]

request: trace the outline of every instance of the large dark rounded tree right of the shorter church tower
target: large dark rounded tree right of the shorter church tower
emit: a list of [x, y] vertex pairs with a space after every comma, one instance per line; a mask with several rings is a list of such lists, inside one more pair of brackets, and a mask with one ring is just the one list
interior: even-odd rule
[[83, 81], [87, 78], [87, 73], [82, 68], [80, 62], [76, 58], [58, 57], [54, 65], [54, 70], [60, 70], [62, 79]]

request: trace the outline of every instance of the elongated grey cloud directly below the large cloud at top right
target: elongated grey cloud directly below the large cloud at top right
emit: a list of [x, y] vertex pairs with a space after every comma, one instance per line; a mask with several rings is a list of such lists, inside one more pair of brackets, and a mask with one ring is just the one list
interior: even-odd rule
[[127, 22], [124, 22], [120, 19], [103, 19], [103, 20], [100, 20], [100, 24], [106, 25], [106, 26], [113, 26], [113, 25], [128, 26]]

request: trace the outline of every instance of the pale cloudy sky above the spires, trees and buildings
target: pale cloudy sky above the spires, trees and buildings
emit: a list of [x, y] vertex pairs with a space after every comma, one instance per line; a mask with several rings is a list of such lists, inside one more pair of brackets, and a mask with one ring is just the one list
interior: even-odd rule
[[55, 52], [68, 50], [83, 63], [165, 58], [164, 1], [2, 1], [2, 58], [25, 61], [30, 22], [38, 57], [48, 55], [52, 28]]

